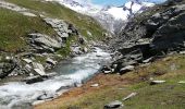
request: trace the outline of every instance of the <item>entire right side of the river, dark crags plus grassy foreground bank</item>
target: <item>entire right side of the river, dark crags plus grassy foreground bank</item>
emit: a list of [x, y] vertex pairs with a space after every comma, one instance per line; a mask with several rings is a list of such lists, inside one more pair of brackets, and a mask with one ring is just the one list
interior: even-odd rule
[[168, 0], [137, 14], [108, 41], [114, 61], [103, 74], [36, 108], [183, 109], [184, 4]]

